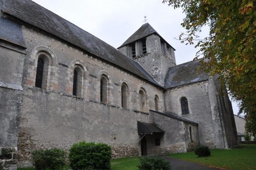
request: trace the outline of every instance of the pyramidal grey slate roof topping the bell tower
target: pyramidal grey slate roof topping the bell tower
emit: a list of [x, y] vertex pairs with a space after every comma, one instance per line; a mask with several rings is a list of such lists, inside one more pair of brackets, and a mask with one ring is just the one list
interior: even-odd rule
[[[157, 34], [161, 39], [164, 40], [164, 38], [162, 38], [161, 35], [159, 35], [158, 32], [155, 31], [154, 28], [150, 24], [146, 23], [146, 24], [143, 24], [136, 32], [134, 32], [133, 35], [131, 35], [120, 47], [130, 44], [131, 42], [135, 42], [135, 41], [139, 40], [140, 38], [147, 37], [148, 35], [151, 35], [151, 34]], [[166, 43], [168, 43], [168, 42], [166, 42]], [[172, 46], [172, 45], [170, 45], [170, 46]], [[118, 47], [118, 49], [120, 47]]]

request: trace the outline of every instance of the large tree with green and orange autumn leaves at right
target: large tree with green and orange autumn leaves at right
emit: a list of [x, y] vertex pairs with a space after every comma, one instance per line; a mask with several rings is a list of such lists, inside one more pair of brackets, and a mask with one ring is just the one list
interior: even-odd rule
[[[256, 135], [256, 0], [163, 0], [174, 8], [181, 7], [186, 17], [181, 24], [182, 43], [194, 44], [207, 58], [203, 70], [220, 75], [220, 82], [230, 96], [240, 101], [247, 132]], [[199, 39], [203, 26], [209, 35]]]

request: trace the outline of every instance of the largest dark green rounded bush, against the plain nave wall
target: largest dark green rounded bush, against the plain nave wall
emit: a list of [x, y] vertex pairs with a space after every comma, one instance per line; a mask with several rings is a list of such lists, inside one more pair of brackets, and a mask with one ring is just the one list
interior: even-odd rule
[[70, 167], [74, 170], [110, 170], [111, 147], [105, 143], [75, 143], [70, 148]]

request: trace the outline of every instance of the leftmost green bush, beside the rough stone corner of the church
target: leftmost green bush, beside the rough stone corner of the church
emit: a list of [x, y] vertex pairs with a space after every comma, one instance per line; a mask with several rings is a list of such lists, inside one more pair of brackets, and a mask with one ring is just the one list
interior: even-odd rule
[[36, 170], [62, 170], [66, 153], [62, 149], [39, 149], [32, 152], [33, 165]]

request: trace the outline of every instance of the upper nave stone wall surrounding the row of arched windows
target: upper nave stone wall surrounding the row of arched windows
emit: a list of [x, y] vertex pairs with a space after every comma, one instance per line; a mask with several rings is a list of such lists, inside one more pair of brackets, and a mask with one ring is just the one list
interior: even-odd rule
[[[90, 56], [74, 46], [53, 38], [44, 32], [26, 28], [22, 30], [28, 46], [28, 55], [25, 58], [24, 86], [33, 88], [35, 86], [35, 74], [37, 64], [37, 53], [45, 52], [52, 60], [49, 69], [49, 86], [47, 90], [53, 90], [72, 96], [74, 64], [84, 68], [83, 93], [81, 98], [91, 101], [100, 101], [100, 78], [105, 75], [108, 78], [107, 104], [121, 107], [121, 86], [128, 86], [127, 108], [139, 110], [138, 92], [144, 88], [147, 98], [147, 112], [154, 108], [154, 95], [159, 97], [159, 110], [163, 111], [163, 94], [159, 87], [142, 80], [140, 77], [112, 66], [109, 63]], [[136, 104], [134, 104], [136, 103]]]

